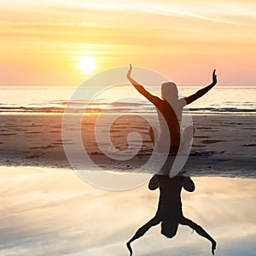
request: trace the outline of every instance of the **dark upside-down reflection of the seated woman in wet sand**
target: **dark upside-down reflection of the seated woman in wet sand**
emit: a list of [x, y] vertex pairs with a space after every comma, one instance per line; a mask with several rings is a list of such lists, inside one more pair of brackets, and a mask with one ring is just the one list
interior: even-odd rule
[[161, 224], [161, 234], [168, 238], [176, 235], [178, 224], [189, 226], [197, 234], [212, 242], [212, 254], [214, 255], [216, 241], [201, 226], [183, 216], [181, 190], [182, 188], [189, 192], [195, 190], [195, 184], [190, 177], [154, 175], [148, 183], [148, 189], [154, 190], [157, 188], [160, 188], [160, 199], [154, 218], [150, 219], [148, 223], [137, 230], [131, 240], [126, 243], [131, 255], [131, 241], [135, 241], [137, 238], [143, 236], [152, 226], [157, 224]]

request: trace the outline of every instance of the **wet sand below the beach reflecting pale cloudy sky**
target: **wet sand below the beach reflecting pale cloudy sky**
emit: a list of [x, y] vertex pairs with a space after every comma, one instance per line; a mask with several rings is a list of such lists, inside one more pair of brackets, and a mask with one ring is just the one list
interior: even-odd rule
[[[91, 187], [73, 172], [0, 168], [1, 255], [128, 255], [134, 232], [154, 216], [158, 191]], [[254, 255], [256, 181], [196, 177], [183, 192], [183, 213], [218, 242], [216, 255]], [[132, 244], [134, 255], [211, 255], [210, 242], [179, 226], [172, 240], [160, 226]]]

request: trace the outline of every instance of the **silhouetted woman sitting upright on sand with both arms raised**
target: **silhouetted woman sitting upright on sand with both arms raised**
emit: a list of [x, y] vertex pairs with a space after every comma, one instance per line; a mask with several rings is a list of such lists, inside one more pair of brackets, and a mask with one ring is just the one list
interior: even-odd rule
[[[177, 153], [180, 144], [182, 143], [182, 148], [185, 149], [186, 144], [189, 144], [193, 134], [194, 128], [189, 126], [181, 132], [180, 122], [182, 119], [183, 107], [195, 102], [201, 96], [204, 96], [207, 91], [211, 90], [212, 87], [217, 84], [217, 76], [215, 74], [215, 69], [212, 73], [212, 84], [209, 84], [207, 87], [198, 90], [195, 94], [185, 97], [178, 98], [177, 95], [177, 85], [168, 82], [161, 85], [161, 95], [162, 99], [158, 96], [153, 96], [145, 90], [141, 84], [138, 84], [134, 79], [131, 78], [131, 64], [130, 69], [126, 75], [127, 79], [133, 84], [133, 86], [145, 96], [149, 102], [152, 102], [157, 109], [159, 122], [160, 122], [160, 131], [150, 127], [149, 136], [154, 144], [156, 152], [166, 152], [169, 150], [169, 153]], [[166, 139], [170, 138], [170, 139]], [[156, 142], [155, 142], [156, 139]], [[167, 145], [167, 146], [166, 146]]]

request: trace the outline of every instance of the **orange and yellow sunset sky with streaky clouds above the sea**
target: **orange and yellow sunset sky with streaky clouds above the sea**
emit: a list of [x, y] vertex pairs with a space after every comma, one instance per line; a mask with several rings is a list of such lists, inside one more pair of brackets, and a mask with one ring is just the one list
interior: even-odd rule
[[152, 68], [180, 85], [256, 85], [256, 2], [0, 0], [0, 84], [79, 85], [111, 67]]

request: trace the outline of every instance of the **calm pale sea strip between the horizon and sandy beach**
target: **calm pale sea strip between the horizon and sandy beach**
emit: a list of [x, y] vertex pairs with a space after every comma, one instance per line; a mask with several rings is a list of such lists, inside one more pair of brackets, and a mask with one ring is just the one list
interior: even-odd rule
[[[152, 89], [152, 88], [151, 88]], [[189, 96], [200, 87], [181, 86], [180, 96]], [[0, 86], [1, 113], [62, 113], [67, 107], [73, 112], [154, 113], [154, 106], [131, 85], [108, 90], [84, 88], [80, 97], [71, 100], [75, 86]], [[154, 92], [160, 93], [160, 87]], [[88, 97], [88, 95], [92, 95]], [[86, 107], [86, 108], [85, 108]], [[256, 87], [218, 87], [189, 105], [191, 113], [256, 113]]]

